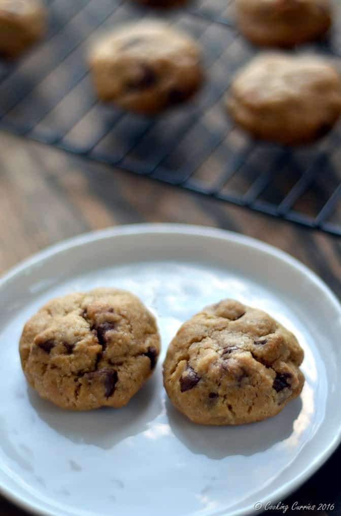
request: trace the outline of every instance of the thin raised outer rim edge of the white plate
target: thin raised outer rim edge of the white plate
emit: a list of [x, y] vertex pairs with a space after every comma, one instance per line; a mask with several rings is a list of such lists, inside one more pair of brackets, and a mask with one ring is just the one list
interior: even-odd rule
[[[50, 245], [41, 251], [29, 256], [28, 258], [21, 261], [18, 265], [9, 268], [3, 275], [0, 276], [0, 296], [2, 288], [16, 276], [20, 275], [27, 268], [37, 265], [50, 257], [67, 251], [73, 247], [81, 246], [84, 244], [91, 244], [94, 241], [102, 239], [111, 239], [117, 236], [134, 234], [181, 234], [181, 235], [192, 235], [197, 237], [212, 237], [225, 241], [233, 241], [233, 243], [248, 247], [257, 248], [266, 254], [270, 254], [277, 260], [289, 264], [293, 268], [299, 270], [301, 274], [308, 277], [309, 280], [314, 283], [325, 296], [329, 298], [329, 301], [334, 305], [334, 308], [339, 311], [341, 315], [341, 303], [332, 291], [332, 289], [308, 266], [297, 260], [291, 254], [267, 244], [262, 240], [253, 238], [247, 235], [236, 233], [234, 231], [200, 226], [195, 224], [185, 223], [134, 223], [134, 224], [122, 224], [106, 229], [100, 229], [96, 231], [90, 231], [76, 235], [64, 240], [59, 241], [56, 244]], [[305, 481], [316, 473], [320, 467], [330, 458], [337, 446], [341, 443], [341, 420], [339, 426], [336, 428], [336, 432], [332, 441], [323, 447], [318, 457], [307, 466], [301, 473], [295, 478], [284, 483], [281, 487], [277, 488], [273, 493], [271, 499], [272, 503], [277, 503], [280, 499], [287, 497], [292, 492], [296, 491]], [[32, 513], [39, 514], [41, 516], [56, 516], [57, 512], [52, 512], [49, 509], [40, 508], [35, 502], [29, 503], [26, 499], [18, 497], [14, 494], [10, 488], [7, 488], [0, 483], [0, 494], [7, 498], [10, 502], [18, 507]], [[259, 499], [258, 503], [262, 504], [261, 510], [264, 509], [265, 503], [268, 502], [266, 497]], [[255, 504], [254, 504], [255, 505]], [[231, 512], [231, 516], [246, 516], [248, 514], [259, 513], [260, 510], [255, 509], [253, 506], [247, 506], [245, 508], [238, 509]], [[226, 513], [226, 509], [212, 513], [212, 516], [223, 516]]]

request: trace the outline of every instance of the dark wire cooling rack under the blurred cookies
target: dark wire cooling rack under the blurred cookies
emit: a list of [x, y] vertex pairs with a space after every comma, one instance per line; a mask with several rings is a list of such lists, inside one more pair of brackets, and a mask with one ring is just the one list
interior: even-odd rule
[[[235, 27], [233, 1], [157, 11], [125, 0], [47, 0], [49, 31], [23, 59], [0, 65], [0, 127], [126, 171], [341, 235], [341, 123], [296, 149], [255, 142], [221, 103], [257, 49]], [[341, 12], [328, 40], [299, 52], [341, 57]], [[148, 118], [98, 103], [87, 49], [103, 30], [166, 19], [202, 47], [207, 80], [195, 99]], [[23, 171], [24, 173], [24, 171]]]

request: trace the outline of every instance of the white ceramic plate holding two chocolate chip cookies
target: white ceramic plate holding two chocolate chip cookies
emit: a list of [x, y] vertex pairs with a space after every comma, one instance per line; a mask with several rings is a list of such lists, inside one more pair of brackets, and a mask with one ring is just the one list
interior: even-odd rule
[[[27, 387], [18, 340], [49, 298], [100, 285], [134, 292], [156, 315], [161, 360], [127, 407], [65, 412]], [[267, 421], [196, 426], [167, 400], [161, 364], [181, 323], [224, 297], [295, 332], [306, 382], [301, 397]], [[0, 299], [0, 485], [33, 512], [251, 513], [296, 489], [340, 441], [340, 305], [309, 269], [257, 240], [185, 225], [110, 229], [16, 267], [1, 281]]]

